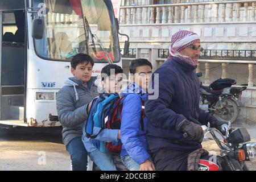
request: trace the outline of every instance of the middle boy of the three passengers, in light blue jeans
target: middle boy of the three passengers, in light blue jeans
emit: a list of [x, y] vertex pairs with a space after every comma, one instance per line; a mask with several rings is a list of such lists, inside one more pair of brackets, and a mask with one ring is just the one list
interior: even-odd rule
[[[115, 64], [108, 64], [101, 70], [101, 84], [102, 93], [118, 93], [122, 87], [122, 73], [121, 67]], [[85, 123], [82, 130], [82, 142], [90, 156], [90, 159], [102, 170], [102, 171], [116, 171], [115, 164], [112, 158], [112, 154], [109, 152], [101, 152], [95, 143], [96, 140], [103, 142], [117, 142], [120, 139], [120, 130], [104, 129], [101, 131], [100, 127], [93, 127], [92, 136], [96, 138], [86, 137]]]

